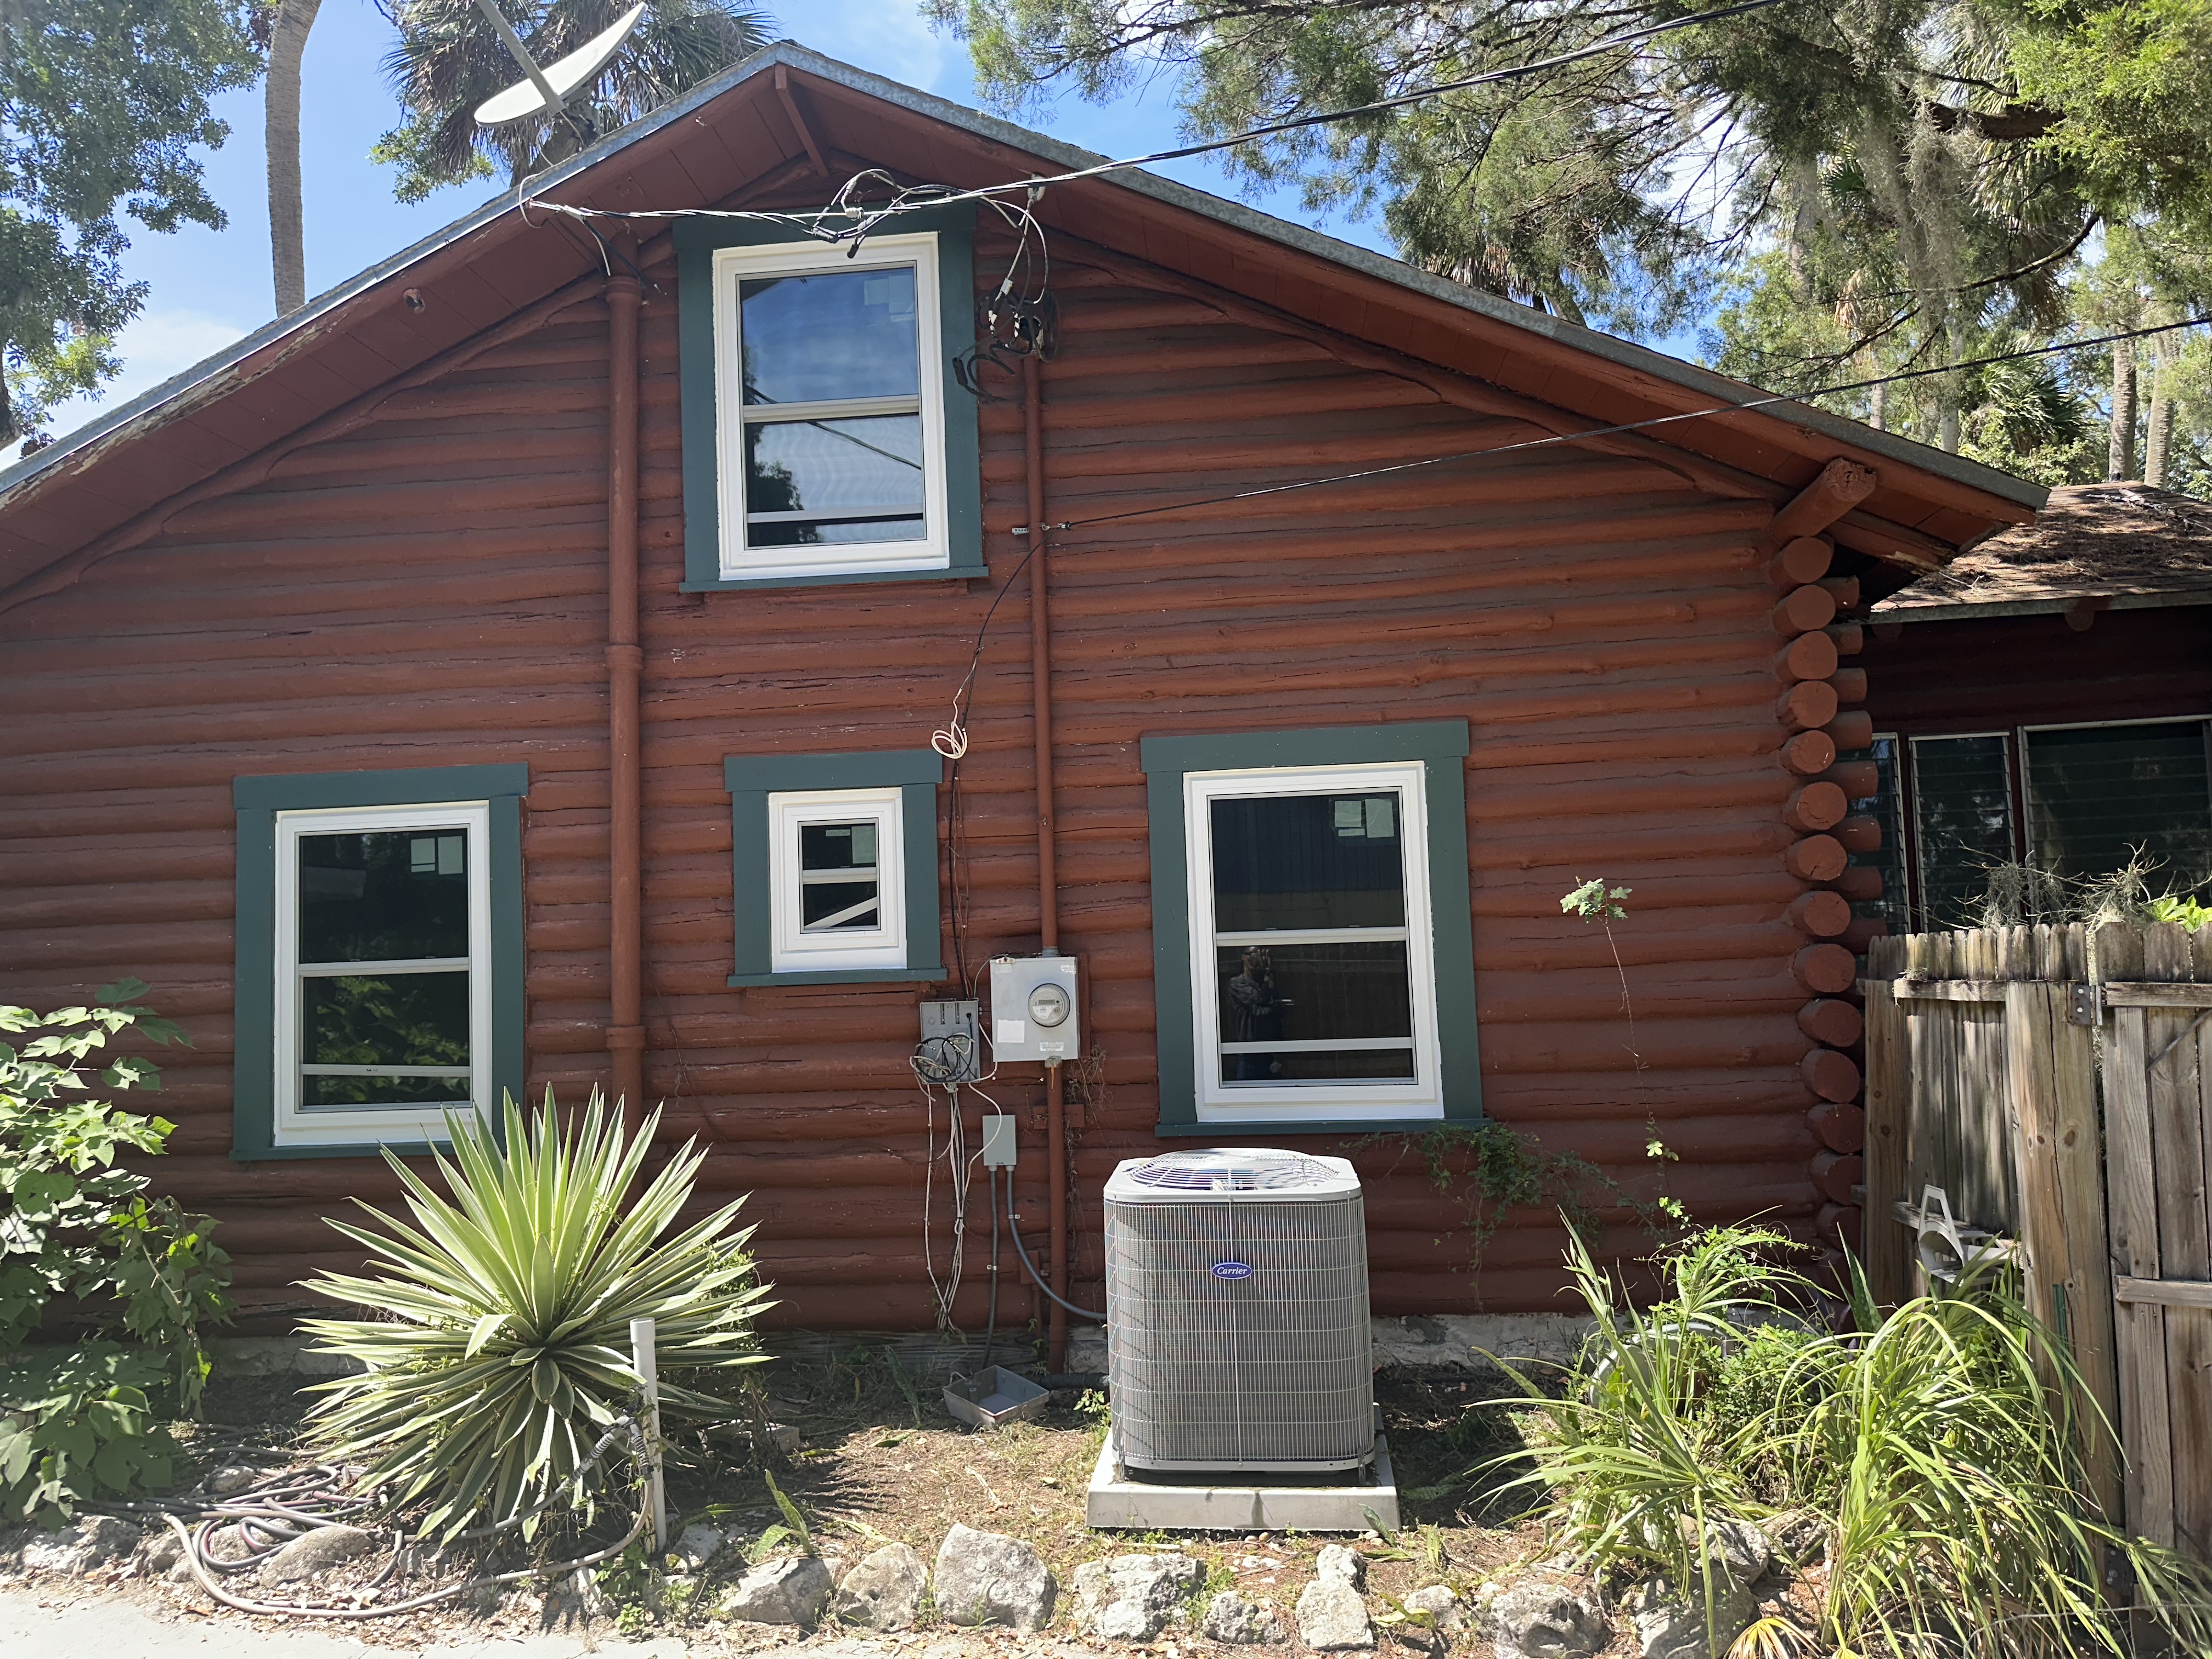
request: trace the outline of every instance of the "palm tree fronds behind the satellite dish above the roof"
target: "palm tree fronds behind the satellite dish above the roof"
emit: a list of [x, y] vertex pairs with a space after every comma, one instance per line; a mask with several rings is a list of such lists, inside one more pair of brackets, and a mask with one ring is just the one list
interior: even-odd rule
[[[378, 0], [400, 31], [385, 77], [403, 124], [376, 142], [376, 159], [400, 168], [400, 201], [493, 173], [511, 184], [573, 155], [591, 137], [635, 122], [670, 97], [768, 44], [768, 13], [743, 0], [648, 0], [644, 22], [606, 73], [560, 117], [482, 128], [476, 106], [522, 80], [476, 0]], [[613, 27], [626, 0], [504, 0], [531, 58], [549, 64]]]

